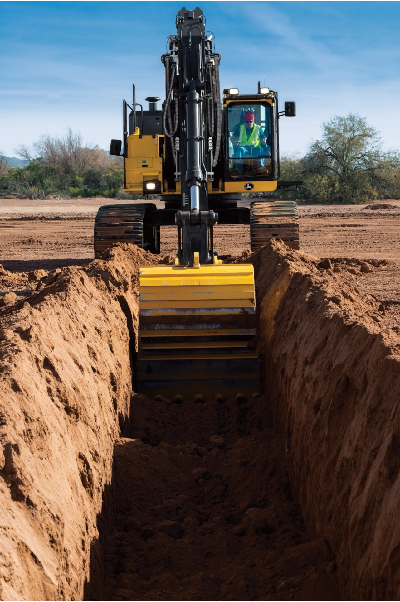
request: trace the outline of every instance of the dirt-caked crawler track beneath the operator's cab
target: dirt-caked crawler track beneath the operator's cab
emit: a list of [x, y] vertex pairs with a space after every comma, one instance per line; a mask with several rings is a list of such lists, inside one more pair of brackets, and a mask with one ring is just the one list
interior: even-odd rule
[[299, 213], [293, 200], [255, 201], [250, 204], [251, 250], [257, 251], [270, 240], [281, 240], [290, 249], [299, 249]]

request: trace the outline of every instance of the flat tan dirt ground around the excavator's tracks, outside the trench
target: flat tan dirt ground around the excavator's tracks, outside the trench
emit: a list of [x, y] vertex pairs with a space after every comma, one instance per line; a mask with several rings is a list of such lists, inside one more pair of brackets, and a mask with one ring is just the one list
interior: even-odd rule
[[[114, 199], [17, 200], [0, 202], [0, 263], [5, 270], [28, 273], [83, 265], [93, 258], [93, 223], [99, 206]], [[117, 201], [123, 203], [123, 201]], [[130, 202], [130, 201], [127, 201]], [[163, 203], [156, 202], [158, 206]], [[249, 205], [242, 200], [240, 205]], [[386, 306], [385, 326], [400, 326], [400, 200], [367, 205], [307, 205], [299, 203], [301, 249], [320, 258], [337, 259], [355, 268], [354, 285]], [[370, 206], [371, 206], [370, 205]], [[240, 256], [248, 250], [249, 226], [214, 228], [219, 255]], [[161, 229], [160, 256], [175, 256], [175, 228]], [[373, 272], [360, 272], [362, 261], [375, 262]], [[24, 285], [24, 282], [26, 285]], [[12, 284], [12, 285], [11, 285]], [[1, 283], [0, 283], [1, 285]], [[7, 284], [18, 296], [30, 293], [25, 280]]]

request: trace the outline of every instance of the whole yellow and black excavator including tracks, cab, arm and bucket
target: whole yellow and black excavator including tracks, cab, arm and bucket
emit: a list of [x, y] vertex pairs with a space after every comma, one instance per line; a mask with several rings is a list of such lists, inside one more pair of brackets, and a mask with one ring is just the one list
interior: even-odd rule
[[[213, 228], [250, 224], [251, 249], [272, 238], [299, 248], [295, 202], [255, 200], [280, 182], [278, 122], [296, 114], [295, 102], [278, 111], [278, 95], [258, 82], [241, 95], [219, 86], [220, 55], [205, 31], [200, 8], [182, 8], [177, 33], [161, 61], [166, 99], [149, 109], [123, 101], [123, 140], [110, 155], [123, 156], [123, 189], [156, 194], [154, 203], [106, 205], [95, 219], [95, 255], [117, 241], [160, 253], [160, 227], [177, 226], [175, 265], [140, 268], [136, 386], [150, 397], [246, 399], [260, 391], [252, 264], [222, 265]], [[130, 113], [128, 114], [128, 110]]]

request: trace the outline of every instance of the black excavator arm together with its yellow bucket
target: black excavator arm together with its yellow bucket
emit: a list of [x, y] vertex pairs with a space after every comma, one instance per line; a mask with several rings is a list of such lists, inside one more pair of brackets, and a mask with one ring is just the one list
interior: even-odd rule
[[222, 134], [220, 57], [200, 8], [182, 8], [176, 25], [161, 60], [166, 164], [181, 187], [178, 253], [173, 267], [140, 268], [137, 387], [176, 400], [248, 397], [260, 386], [253, 267], [221, 265], [208, 206]]

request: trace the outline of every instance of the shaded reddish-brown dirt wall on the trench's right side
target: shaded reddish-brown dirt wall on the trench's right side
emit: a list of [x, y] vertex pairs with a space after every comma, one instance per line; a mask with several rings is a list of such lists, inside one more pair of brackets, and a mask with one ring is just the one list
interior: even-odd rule
[[354, 276], [280, 244], [253, 261], [266, 389], [307, 528], [336, 554], [344, 599], [398, 600], [400, 340]]

